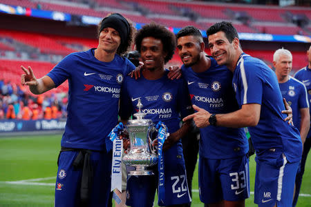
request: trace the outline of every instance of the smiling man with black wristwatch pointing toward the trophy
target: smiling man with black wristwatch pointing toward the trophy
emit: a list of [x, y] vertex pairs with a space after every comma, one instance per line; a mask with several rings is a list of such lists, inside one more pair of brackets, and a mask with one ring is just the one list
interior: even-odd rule
[[207, 30], [211, 55], [218, 65], [233, 72], [232, 86], [239, 110], [211, 114], [202, 108], [184, 119], [196, 126], [248, 127], [256, 150], [255, 199], [258, 206], [291, 206], [294, 178], [301, 159], [299, 131], [284, 121], [285, 106], [276, 75], [240, 46], [238, 32], [229, 22], [220, 22]]

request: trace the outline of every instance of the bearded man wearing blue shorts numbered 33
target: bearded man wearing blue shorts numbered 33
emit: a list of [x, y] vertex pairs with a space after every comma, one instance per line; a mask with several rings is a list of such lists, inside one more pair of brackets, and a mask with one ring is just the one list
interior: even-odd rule
[[[191, 101], [214, 113], [238, 110], [232, 72], [205, 54], [198, 28], [187, 26], [177, 34], [178, 55], [184, 65]], [[200, 128], [198, 179], [205, 206], [245, 206], [249, 197], [248, 142], [243, 128]]]

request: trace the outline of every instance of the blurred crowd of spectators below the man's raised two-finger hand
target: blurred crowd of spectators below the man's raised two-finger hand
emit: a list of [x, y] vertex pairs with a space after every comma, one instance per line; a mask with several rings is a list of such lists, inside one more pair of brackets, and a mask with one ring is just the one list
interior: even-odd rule
[[0, 119], [66, 118], [67, 103], [67, 92], [34, 96], [23, 86], [0, 80]]

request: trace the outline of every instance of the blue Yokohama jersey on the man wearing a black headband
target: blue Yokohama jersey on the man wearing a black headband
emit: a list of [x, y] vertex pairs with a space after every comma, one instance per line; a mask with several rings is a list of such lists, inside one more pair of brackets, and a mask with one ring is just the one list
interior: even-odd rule
[[62, 146], [104, 150], [107, 135], [117, 124], [118, 102], [124, 76], [135, 69], [119, 55], [103, 62], [94, 50], [74, 52], [60, 61], [48, 76], [55, 86], [68, 79], [68, 117]]

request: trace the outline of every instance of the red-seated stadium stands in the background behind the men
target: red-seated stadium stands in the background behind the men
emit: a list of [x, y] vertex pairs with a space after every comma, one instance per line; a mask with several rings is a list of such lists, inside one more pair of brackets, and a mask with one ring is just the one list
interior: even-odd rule
[[[218, 21], [232, 21], [238, 32], [267, 34], [311, 34], [311, 9], [303, 7], [248, 6], [232, 3], [207, 3], [202, 1], [152, 1], [152, 0], [2, 0], [1, 3], [66, 12], [93, 17], [105, 17], [110, 12], [120, 12], [133, 23], [155, 21], [168, 28], [182, 28], [192, 25], [206, 30]], [[67, 35], [67, 36], [65, 36]], [[32, 66], [37, 77], [46, 75], [55, 64], [70, 52], [88, 50], [97, 46], [96, 38], [72, 37], [68, 34], [41, 34], [39, 32], [21, 32], [0, 29], [0, 82], [20, 86], [20, 66]], [[272, 68], [272, 56], [275, 45], [267, 48], [244, 50], [249, 55], [263, 59]], [[294, 46], [293, 70], [305, 66], [305, 51]], [[209, 50], [206, 50], [209, 55]], [[45, 61], [43, 61], [45, 60]], [[180, 66], [182, 62], [177, 53], [168, 66]], [[23, 88], [23, 87], [21, 87]], [[1, 88], [0, 88], [1, 90]], [[24, 90], [24, 89], [23, 89]], [[67, 92], [68, 83], [46, 93]], [[66, 101], [65, 101], [66, 102]]]

